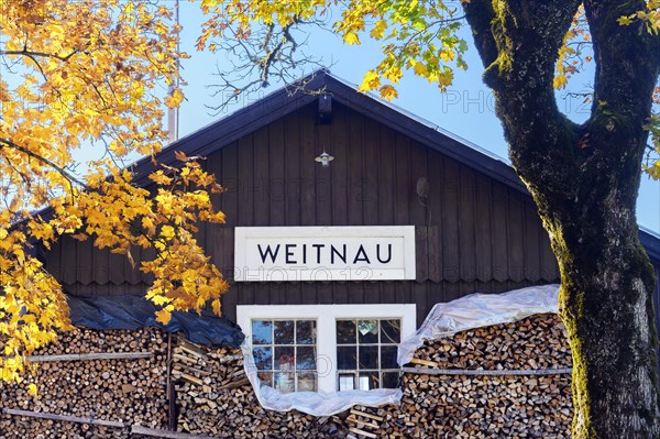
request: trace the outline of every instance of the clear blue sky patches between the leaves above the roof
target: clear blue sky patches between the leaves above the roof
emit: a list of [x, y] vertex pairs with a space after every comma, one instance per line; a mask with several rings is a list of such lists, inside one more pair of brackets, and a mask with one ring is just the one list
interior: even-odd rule
[[[216, 84], [213, 74], [217, 72], [217, 65], [222, 68], [227, 65], [227, 59], [221, 54], [195, 51], [201, 20], [198, 4], [185, 1], [180, 3], [180, 23], [184, 26], [182, 50], [188, 52], [191, 58], [182, 63], [182, 73], [188, 86], [184, 88], [186, 101], [179, 116], [179, 136], [212, 123], [282, 86], [273, 84], [255, 95], [243, 97], [221, 114], [210, 114], [206, 106], [215, 102], [211, 90], [207, 87]], [[466, 40], [472, 42], [469, 35]], [[373, 42], [365, 40], [360, 46], [348, 46], [330, 32], [317, 30], [310, 35], [306, 51], [315, 56], [322, 56], [333, 75], [353, 84], [360, 84], [364, 73], [380, 61], [378, 45]], [[470, 68], [466, 72], [455, 72], [454, 84], [444, 94], [424, 79], [411, 74], [405, 75], [397, 86], [399, 98], [393, 103], [506, 158], [507, 146], [502, 125], [494, 112], [493, 96], [481, 80], [483, 67], [472, 47], [468, 54], [468, 64]], [[572, 90], [587, 89], [591, 79], [588, 75], [591, 72], [575, 77], [571, 83]], [[565, 91], [559, 91], [558, 96], [562, 98], [559, 102], [560, 109], [571, 119], [581, 122], [588, 117], [588, 103], [583, 103], [581, 98], [566, 98]], [[637, 216], [640, 226], [660, 233], [660, 182], [653, 182], [646, 175], [642, 176]]]

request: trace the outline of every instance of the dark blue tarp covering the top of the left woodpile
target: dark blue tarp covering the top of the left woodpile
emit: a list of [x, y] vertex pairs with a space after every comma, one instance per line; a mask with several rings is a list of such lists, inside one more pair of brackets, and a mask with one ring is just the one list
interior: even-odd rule
[[186, 339], [212, 347], [239, 348], [245, 336], [241, 328], [224, 317], [210, 311], [172, 312], [166, 326], [155, 319], [158, 309], [140, 296], [68, 296], [72, 323], [91, 329], [128, 329], [157, 327], [167, 332], [182, 331]]

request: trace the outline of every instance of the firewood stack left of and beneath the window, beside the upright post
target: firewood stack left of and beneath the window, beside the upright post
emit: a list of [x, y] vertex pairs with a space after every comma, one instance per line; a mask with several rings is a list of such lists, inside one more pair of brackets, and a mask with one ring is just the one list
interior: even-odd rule
[[174, 348], [178, 431], [216, 438], [343, 438], [340, 417], [265, 410], [238, 349], [206, 349], [184, 340]]

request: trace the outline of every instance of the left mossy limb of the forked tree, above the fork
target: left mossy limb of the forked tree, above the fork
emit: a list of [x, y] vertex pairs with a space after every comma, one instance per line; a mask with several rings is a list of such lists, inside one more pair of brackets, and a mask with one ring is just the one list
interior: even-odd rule
[[497, 10], [492, 3], [472, 0], [464, 8], [514, 167], [527, 185], [539, 187], [558, 180], [543, 168], [552, 163], [565, 176], [560, 180], [566, 182], [553, 190], [570, 191], [578, 174], [572, 145], [581, 134], [559, 111], [553, 78], [559, 48], [580, 1], [501, 0]]

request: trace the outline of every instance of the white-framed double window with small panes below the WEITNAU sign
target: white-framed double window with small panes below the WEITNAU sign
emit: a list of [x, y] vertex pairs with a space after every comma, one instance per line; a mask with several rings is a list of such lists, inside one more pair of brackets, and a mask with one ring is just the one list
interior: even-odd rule
[[283, 393], [394, 388], [415, 305], [246, 305], [238, 323], [262, 385]]

